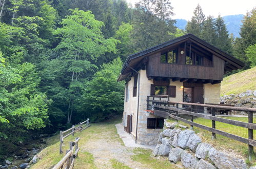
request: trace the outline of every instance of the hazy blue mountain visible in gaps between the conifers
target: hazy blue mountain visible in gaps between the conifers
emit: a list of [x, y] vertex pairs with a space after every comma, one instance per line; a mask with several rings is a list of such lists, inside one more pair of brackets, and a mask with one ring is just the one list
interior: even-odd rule
[[[240, 37], [239, 31], [242, 25], [242, 20], [244, 18], [243, 14], [239, 15], [227, 15], [223, 16], [225, 24], [229, 33], [233, 33], [234, 37]], [[187, 20], [185, 19], [176, 19], [176, 24], [174, 24], [179, 29], [185, 29], [187, 25]]]

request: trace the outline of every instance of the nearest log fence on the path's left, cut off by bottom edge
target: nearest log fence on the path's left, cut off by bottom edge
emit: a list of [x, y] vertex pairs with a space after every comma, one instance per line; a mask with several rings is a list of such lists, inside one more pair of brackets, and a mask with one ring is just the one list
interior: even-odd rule
[[60, 169], [65, 166], [65, 168], [72, 169], [74, 168], [74, 162], [75, 159], [78, 156], [78, 151], [80, 148], [78, 148], [78, 141], [80, 140], [79, 137], [75, 138], [75, 141], [69, 142], [69, 150], [66, 151], [66, 155], [59, 161], [53, 169]]

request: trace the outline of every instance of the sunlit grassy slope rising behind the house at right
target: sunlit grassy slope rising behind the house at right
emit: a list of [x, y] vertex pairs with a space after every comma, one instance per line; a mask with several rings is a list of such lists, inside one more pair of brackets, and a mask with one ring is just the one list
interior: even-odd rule
[[221, 83], [222, 96], [246, 90], [256, 90], [256, 67], [227, 76]]

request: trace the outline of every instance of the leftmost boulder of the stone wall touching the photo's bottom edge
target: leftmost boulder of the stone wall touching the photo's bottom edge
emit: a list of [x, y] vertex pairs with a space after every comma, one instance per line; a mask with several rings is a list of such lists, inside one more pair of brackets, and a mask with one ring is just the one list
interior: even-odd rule
[[186, 168], [195, 168], [196, 163], [198, 163], [198, 159], [193, 156], [190, 153], [187, 153], [186, 151], [183, 151], [181, 154], [181, 163], [186, 167]]

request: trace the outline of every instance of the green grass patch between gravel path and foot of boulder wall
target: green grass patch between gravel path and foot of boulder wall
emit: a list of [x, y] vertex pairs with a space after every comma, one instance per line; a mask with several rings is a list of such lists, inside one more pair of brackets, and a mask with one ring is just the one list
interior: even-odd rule
[[[170, 163], [168, 158], [156, 159], [151, 156], [152, 150], [135, 148], [133, 150], [133, 155], [131, 158], [134, 161], [145, 164], [148, 168], [162, 169], [162, 168], [177, 168], [177, 165]], [[178, 163], [179, 164], [179, 163]]]

